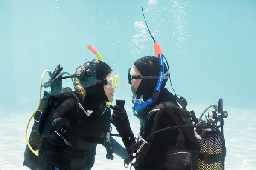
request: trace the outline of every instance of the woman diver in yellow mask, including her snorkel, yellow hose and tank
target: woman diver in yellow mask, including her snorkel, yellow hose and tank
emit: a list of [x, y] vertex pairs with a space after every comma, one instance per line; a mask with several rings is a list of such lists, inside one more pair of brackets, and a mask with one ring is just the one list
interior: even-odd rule
[[[69, 74], [67, 72], [61, 73], [61, 70], [63, 68], [61, 68], [59, 65], [55, 69], [54, 71], [55, 74], [53, 76], [51, 71], [49, 70], [44, 71], [41, 77], [41, 83], [40, 83], [40, 100], [39, 100], [38, 108], [35, 110], [35, 112], [32, 114], [32, 116], [29, 119], [29, 122], [30, 122], [31, 119], [34, 118], [34, 124], [31, 130], [29, 139], [27, 137], [29, 122], [27, 123], [27, 126], [26, 126], [27, 145], [24, 152], [23, 166], [29, 167], [29, 169], [31, 170], [48, 170], [48, 169], [54, 168], [54, 166], [51, 166], [51, 165], [55, 164], [56, 165], [55, 170], [58, 170], [59, 169], [58, 164], [48, 162], [43, 157], [48, 154], [47, 150], [45, 149], [45, 146], [47, 147], [47, 145], [49, 145], [49, 142], [50, 142], [51, 143], [49, 145], [50, 152], [52, 151], [52, 154], [55, 154], [53, 151], [54, 149], [57, 148], [56, 143], [60, 142], [60, 140], [65, 141], [65, 143], [67, 142], [66, 143], [67, 145], [72, 144], [72, 147], [65, 146], [64, 144], [62, 148], [59, 148], [59, 149], [65, 149], [65, 147], [68, 147], [68, 150], [64, 150], [64, 153], [61, 156], [64, 156], [64, 157], [66, 156], [69, 159], [71, 159], [70, 156], [72, 156], [72, 152], [73, 153], [75, 152], [76, 159], [79, 159], [79, 156], [84, 157], [84, 160], [81, 160], [81, 159], [79, 160], [80, 162], [81, 161], [84, 162], [86, 161], [86, 159], [89, 158], [91, 159], [91, 161], [88, 159], [87, 163], [91, 162], [91, 164], [93, 165], [93, 161], [94, 161], [93, 155], [95, 155], [93, 152], [95, 152], [95, 149], [96, 149], [95, 143], [100, 143], [106, 148], [107, 159], [113, 160], [113, 157], [114, 157], [113, 153], [114, 153], [117, 156], [127, 161], [128, 156], [125, 156], [124, 154], [125, 148], [123, 148], [122, 145], [120, 145], [115, 139], [113, 139], [114, 135], [113, 136], [110, 135], [111, 122], [109, 118], [111, 116], [111, 111], [109, 106], [111, 102], [109, 101], [113, 100], [112, 92], [114, 92], [114, 88], [117, 88], [119, 85], [119, 75], [116, 75], [116, 76], [113, 75], [111, 68], [105, 62], [103, 62], [103, 59], [99, 54], [99, 52], [96, 51], [91, 45], [88, 45], [88, 49], [91, 52], [93, 52], [93, 54], [96, 55], [97, 60], [90, 60], [87, 63], [85, 63], [83, 66], [79, 66], [76, 69], [75, 74]], [[86, 69], [84, 68], [84, 66], [86, 66]], [[44, 74], [47, 72], [50, 76], [50, 79], [48, 82], [42, 84]], [[68, 76], [63, 77], [64, 74], [68, 74]], [[72, 80], [76, 92], [72, 91], [70, 87], [65, 87], [65, 88], [62, 88], [62, 92], [59, 95], [59, 92], [62, 86], [61, 79], [66, 79], [66, 78], [70, 78]], [[73, 78], [75, 78], [75, 83]], [[53, 90], [53, 93], [49, 91], [50, 93], [49, 94], [45, 91], [44, 96], [41, 98], [41, 91], [42, 91], [41, 88], [48, 88], [48, 87], [51, 87], [51, 90]], [[55, 104], [51, 103], [52, 99], [55, 100]], [[106, 99], [105, 108], [103, 107], [104, 99]], [[76, 100], [76, 103], [74, 100]], [[57, 102], [57, 105], [56, 105], [56, 102]], [[65, 104], [67, 104], [67, 106], [65, 106]], [[78, 106], [77, 109], [74, 108], [76, 107], [76, 105]], [[60, 113], [63, 110], [63, 108], [58, 109], [58, 106], [67, 107], [68, 110]], [[104, 112], [100, 114], [100, 112], [102, 112], [103, 110]], [[74, 113], [70, 113], [70, 115], [67, 115], [68, 114], [67, 112], [69, 111], [70, 112], [74, 111]], [[43, 114], [44, 116], [41, 119], [42, 113], [44, 113]], [[53, 117], [51, 118], [52, 115]], [[64, 117], [61, 117], [60, 119], [59, 118], [55, 119], [58, 116], [64, 116]], [[66, 117], [68, 116], [68, 117], [66, 118], [65, 116]], [[40, 119], [41, 121], [39, 121]], [[54, 120], [52, 121], [52, 119]], [[71, 121], [77, 120], [77, 122], [70, 122], [70, 120]], [[56, 123], [56, 122], [58, 123], [52, 126], [51, 121], [53, 123]], [[102, 124], [100, 124], [100, 121], [102, 121]], [[80, 131], [76, 131], [78, 132], [77, 134], [76, 132], [74, 133], [75, 133], [75, 136], [80, 135], [79, 137], [81, 138], [81, 140], [78, 140], [78, 141], [72, 140], [73, 142], [80, 142], [81, 144], [85, 144], [83, 142], [87, 141], [87, 143], [89, 142], [89, 145], [94, 146], [93, 150], [91, 150], [92, 151], [91, 155], [89, 154], [90, 150], [83, 150], [83, 149], [81, 150], [81, 148], [75, 148], [74, 143], [66, 140], [66, 138], [70, 138], [70, 136], [72, 137], [72, 135], [74, 135], [73, 132], [71, 132], [72, 130], [71, 131], [70, 129], [67, 130], [70, 133], [65, 133], [63, 131], [65, 127], [61, 128], [62, 133], [58, 130], [58, 126], [61, 126], [61, 123], [65, 124], [65, 122], [70, 122], [73, 125], [77, 125], [76, 127], [73, 127], [72, 130], [75, 130], [75, 131], [80, 130]], [[40, 127], [39, 127], [39, 123], [40, 123]], [[97, 126], [96, 128], [93, 127], [93, 126], [96, 126], [97, 123], [100, 125]], [[87, 124], [87, 125], [84, 125], [84, 124]], [[66, 125], [70, 125], [70, 124], [67, 123]], [[100, 130], [102, 130], [102, 126], [103, 126], [103, 133], [102, 133], [103, 138], [95, 137], [95, 136], [99, 136]], [[88, 128], [87, 132], [83, 133], [83, 130], [85, 130], [83, 128]], [[49, 132], [47, 133], [46, 130], [49, 130]], [[54, 133], [54, 130], [55, 130], [55, 133], [60, 135], [59, 137], [61, 137], [62, 139], [58, 138], [58, 136], [56, 138], [56, 136], [54, 136], [54, 134], [50, 132], [50, 131], [53, 131]], [[95, 135], [91, 135], [91, 133], [94, 133], [94, 132], [99, 132], [99, 133], [96, 133]], [[51, 135], [49, 135], [50, 133]], [[63, 135], [63, 133], [65, 134]], [[42, 138], [43, 138], [43, 141], [42, 141]], [[79, 143], [76, 143], [76, 144], [79, 144]], [[60, 150], [55, 150], [55, 151], [60, 151]], [[40, 153], [40, 155], [38, 153]], [[67, 153], [71, 155], [68, 156]], [[52, 154], [50, 156], [53, 156]], [[80, 154], [80, 155], [77, 155], [77, 154]], [[39, 159], [38, 159], [38, 156], [39, 156]], [[57, 158], [57, 161], [59, 160], [62, 160], [62, 158]], [[64, 162], [65, 162], [65, 158], [64, 158]], [[63, 161], [61, 162], [61, 164], [63, 164]], [[90, 165], [87, 164], [87, 167], [90, 167]], [[67, 168], [64, 167], [62, 169], [67, 169]]]

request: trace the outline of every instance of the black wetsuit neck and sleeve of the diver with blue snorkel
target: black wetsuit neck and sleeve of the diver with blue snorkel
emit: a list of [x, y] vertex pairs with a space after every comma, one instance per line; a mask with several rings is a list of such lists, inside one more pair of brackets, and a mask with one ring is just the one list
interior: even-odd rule
[[[172, 102], [174, 105], [179, 107], [179, 105], [175, 100], [175, 96], [172, 95], [166, 88], [164, 88], [162, 91], [160, 91], [157, 101], [143, 111], [143, 117], [145, 117], [151, 111], [152, 108], [160, 104], [160, 102]], [[143, 139], [146, 139], [147, 136], [150, 135], [153, 121], [154, 121], [154, 115], [151, 116], [150, 119], [148, 120], [147, 127], [145, 128], [145, 132], [142, 135]], [[168, 114], [162, 113], [157, 125], [157, 130], [160, 130], [166, 127], [172, 127], [172, 126], [176, 126], [176, 122], [174, 121], [174, 119], [172, 119]], [[160, 169], [160, 168], [162, 167], [163, 161], [166, 158], [166, 154], [169, 146], [170, 145], [175, 146], [177, 142], [177, 136], [178, 136], [177, 129], [168, 130], [168, 131], [156, 134], [154, 137], [154, 141], [152, 142], [151, 147], [148, 150], [148, 154], [145, 157], [145, 161], [143, 161], [139, 166], [136, 166], [134, 168], [136, 170], [166, 170], [166, 169]], [[124, 142], [125, 147], [129, 147], [135, 142], [136, 142], [135, 139], [131, 140], [129, 143]], [[133, 158], [134, 157], [131, 156], [131, 159]]]

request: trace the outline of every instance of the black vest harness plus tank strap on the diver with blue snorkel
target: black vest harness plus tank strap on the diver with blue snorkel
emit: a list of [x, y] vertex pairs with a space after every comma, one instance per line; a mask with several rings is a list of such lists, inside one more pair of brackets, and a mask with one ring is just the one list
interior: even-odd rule
[[[171, 116], [172, 119], [175, 120], [177, 126], [168, 127], [156, 131], [157, 124], [162, 113], [166, 113]], [[182, 108], [175, 106], [171, 102], [160, 103], [159, 105], [151, 109], [151, 111], [145, 117], [143, 127], [141, 128], [142, 133], [147, 126], [148, 120], [153, 115], [155, 115], [155, 117], [152, 125], [151, 134], [146, 139], [142, 139], [141, 136], [139, 136], [139, 138], [141, 139], [140, 141], [136, 142], [130, 147], [127, 147], [128, 153], [131, 153], [134, 157], [134, 159], [131, 161], [131, 164], [133, 166], [139, 166], [140, 163], [145, 160], [148, 150], [150, 149], [151, 144], [154, 140], [154, 136], [157, 133], [171, 129], [178, 129], [179, 133], [177, 137], [177, 144], [176, 146], [169, 146], [166, 159], [162, 166], [163, 168], [167, 170], [180, 170], [189, 166], [190, 170], [195, 170], [200, 169], [198, 168], [198, 160], [203, 160], [206, 163], [210, 163], [212, 161], [216, 162], [220, 159], [223, 159], [223, 154], [208, 155], [208, 153], [200, 153], [201, 147], [198, 144], [198, 141], [195, 140], [194, 136], [193, 128], [195, 126], [192, 125], [193, 122], [195, 122], [195, 124], [198, 122], [194, 111], [189, 112], [183, 110]], [[200, 127], [214, 128], [212, 125], [204, 125]], [[215, 126], [215, 128], [219, 127], [221, 126]], [[177, 162], [179, 163], [177, 164]]]

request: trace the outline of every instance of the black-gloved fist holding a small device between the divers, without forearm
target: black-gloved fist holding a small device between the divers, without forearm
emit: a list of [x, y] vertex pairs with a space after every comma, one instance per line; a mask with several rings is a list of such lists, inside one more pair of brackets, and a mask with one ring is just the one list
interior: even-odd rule
[[119, 133], [122, 133], [126, 129], [130, 128], [130, 122], [125, 109], [121, 108], [118, 105], [115, 105], [113, 107], [113, 114], [109, 119], [110, 119], [110, 122], [113, 125], [115, 125], [116, 130]]

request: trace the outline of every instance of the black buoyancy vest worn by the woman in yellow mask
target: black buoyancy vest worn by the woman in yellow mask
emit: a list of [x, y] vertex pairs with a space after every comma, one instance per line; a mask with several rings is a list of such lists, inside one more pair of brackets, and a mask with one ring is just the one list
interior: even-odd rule
[[[107, 144], [106, 138], [101, 138], [103, 125], [100, 117], [92, 118], [93, 115], [101, 115], [105, 109], [102, 105], [98, 110], [88, 116], [87, 106], [80, 102], [76, 92], [65, 94], [67, 98], [77, 99], [76, 125], [73, 127], [61, 127], [48, 137], [43, 137], [39, 149], [38, 159], [49, 166], [67, 170], [70, 167], [76, 169], [90, 169], [93, 167], [97, 144]], [[88, 112], [88, 113], [87, 113]], [[54, 119], [59, 115], [54, 115]]]

